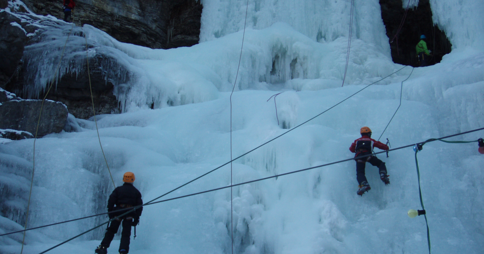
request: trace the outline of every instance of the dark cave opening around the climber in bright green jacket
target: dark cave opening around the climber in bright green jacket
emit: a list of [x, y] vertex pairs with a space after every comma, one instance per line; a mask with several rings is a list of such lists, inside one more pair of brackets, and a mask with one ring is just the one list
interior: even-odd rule
[[380, 0], [380, 6], [387, 36], [390, 41], [393, 40], [390, 43], [393, 62], [418, 67], [415, 46], [420, 41], [421, 35], [427, 37], [427, 48], [434, 53], [429, 65], [435, 65], [442, 60], [442, 56], [450, 53], [452, 45], [447, 36], [433, 24], [429, 0], [420, 0], [418, 7], [408, 11], [395, 39], [393, 38], [405, 14], [402, 2], [401, 0]]

